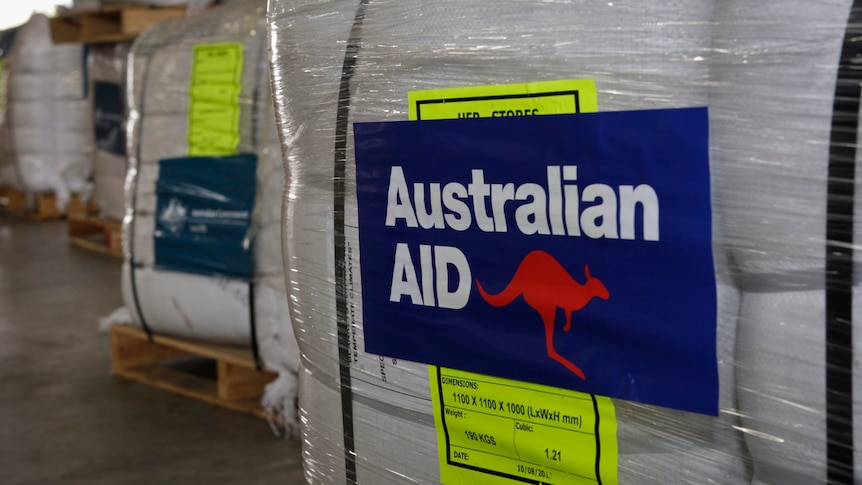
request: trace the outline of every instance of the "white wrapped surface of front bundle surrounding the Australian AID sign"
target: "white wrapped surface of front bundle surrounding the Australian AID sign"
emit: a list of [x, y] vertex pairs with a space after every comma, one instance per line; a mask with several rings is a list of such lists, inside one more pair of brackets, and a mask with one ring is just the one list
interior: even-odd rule
[[346, 297], [355, 320], [336, 307], [338, 265], [361, 264], [346, 252], [358, 247], [353, 123], [406, 120], [415, 90], [589, 78], [601, 111], [710, 115], [720, 413], [615, 399], [620, 483], [851, 482], [827, 450], [825, 377], [827, 173], [851, 4], [271, 1], [308, 479], [343, 483], [355, 461], [359, 483], [440, 482], [427, 366], [363, 352], [361, 282]]

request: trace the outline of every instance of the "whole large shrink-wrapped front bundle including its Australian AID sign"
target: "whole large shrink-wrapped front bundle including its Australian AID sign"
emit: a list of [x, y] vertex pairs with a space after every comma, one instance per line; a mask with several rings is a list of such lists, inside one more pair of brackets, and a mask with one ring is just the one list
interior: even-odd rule
[[[613, 398], [618, 456], [614, 473], [603, 483], [862, 480], [858, 418], [854, 426], [859, 370], [852, 340], [853, 260], [858, 257], [853, 236], [862, 227], [853, 209], [862, 198], [854, 192], [860, 92], [851, 59], [860, 50], [860, 13], [849, 0], [271, 1], [273, 91], [290, 174], [285, 179], [285, 274], [307, 369], [301, 412], [309, 481], [457, 483], [450, 468], [458, 463], [485, 467], [479, 465], [481, 450], [497, 445], [482, 441], [485, 435], [471, 435], [469, 428], [467, 437], [480, 441], [470, 458], [465, 451], [443, 456], [456, 441], [463, 443], [463, 436], [453, 437], [445, 423], [473, 421], [441, 404], [449, 397], [432, 393], [445, 382], [429, 382], [427, 364], [463, 363], [472, 372], [491, 369], [480, 374], [523, 377], [529, 373], [503, 363], [533, 342], [539, 342], [536, 362], [544, 360], [523, 360], [525, 368], [541, 364], [551, 374], [565, 374], [558, 364], [571, 364], [575, 374], [576, 364], [586, 365], [586, 378], [569, 376], [571, 384], [560, 387]], [[554, 111], [563, 116], [553, 121], [395, 123], [543, 114], [535, 101], [524, 101], [529, 109], [501, 104], [485, 114], [477, 106], [501, 85], [532, 86], [520, 95], [526, 99], [548, 94], [539, 83], [565, 80], [594, 82], [597, 115], [566, 115], [589, 111], [581, 104]], [[485, 91], [469, 91], [471, 97], [463, 94], [466, 89], [437, 98], [427, 94], [452, 88]], [[408, 93], [414, 94], [408, 98]], [[577, 99], [584, 102], [590, 94], [582, 90]], [[438, 104], [419, 106], [417, 100]], [[456, 109], [457, 103], [464, 108]], [[704, 116], [702, 125], [697, 117], [692, 118], [697, 123], [682, 123], [676, 131], [665, 124], [682, 116], [680, 108], [704, 107], [695, 113]], [[420, 108], [426, 110], [422, 116]], [[448, 116], [432, 114], [446, 109]], [[623, 131], [639, 116], [655, 123]], [[584, 134], [557, 135], [557, 127], [561, 132], [578, 127]], [[525, 140], [524, 133], [550, 141]], [[694, 147], [694, 155], [673, 165], [674, 173], [663, 172], [661, 163], [649, 161], [653, 151], [657, 159], [670, 160], [678, 150], [655, 148], [662, 143], [680, 150]], [[531, 153], [531, 162], [540, 168], [519, 170], [510, 161], [513, 153]], [[705, 184], [686, 172], [701, 163]], [[562, 182], [554, 175], [560, 173]], [[680, 183], [662, 188], [669, 180]], [[643, 187], [642, 193], [657, 187], [655, 205], [644, 202], [643, 212], [625, 212], [623, 194], [634, 190], [627, 187]], [[582, 191], [580, 207], [569, 202], [578, 196], [575, 190]], [[620, 194], [620, 212], [606, 205], [613, 190]], [[583, 195], [599, 193], [605, 195]], [[425, 200], [422, 194], [430, 195]], [[561, 196], [566, 202], [555, 209], [554, 197]], [[704, 199], [709, 215], [692, 216]], [[543, 201], [540, 208], [531, 203], [536, 200]], [[650, 208], [657, 221], [652, 236], [647, 233]], [[555, 216], [555, 210], [564, 211], [565, 218]], [[576, 210], [577, 217], [569, 217]], [[688, 215], [677, 218], [675, 210]], [[604, 219], [591, 215], [597, 212]], [[613, 227], [608, 221], [617, 217]], [[631, 222], [633, 229], [627, 230], [629, 221], [640, 222]], [[701, 225], [708, 226], [703, 232], [708, 255], [675, 259], [701, 244], [695, 234]], [[569, 236], [570, 243], [560, 243], [561, 236]], [[575, 256], [565, 254], [564, 244]], [[623, 263], [616, 256], [623, 244], [653, 252]], [[665, 252], [663, 245], [673, 249]], [[486, 307], [497, 305], [493, 293], [506, 287], [504, 278], [530, 266], [526, 257], [518, 266], [520, 257], [512, 257], [518, 249], [522, 255], [537, 249], [553, 253], [578, 291], [587, 291], [591, 279], [606, 288], [603, 292], [593, 283], [583, 304], [548, 303], [550, 297], [536, 299], [522, 291], [523, 297], [499, 302], [508, 305], [504, 312], [510, 315], [492, 313]], [[587, 257], [592, 259], [584, 268]], [[498, 263], [491, 263], [495, 258]], [[662, 266], [656, 261], [679, 273], [650, 276], [644, 268]], [[705, 283], [694, 276], [701, 263], [711, 275]], [[485, 274], [501, 275], [489, 284], [479, 266]], [[551, 279], [548, 268], [545, 264], [544, 273], [534, 277], [534, 286]], [[464, 278], [470, 269], [472, 278]], [[453, 272], [460, 273], [460, 283]], [[625, 285], [613, 281], [614, 272], [627, 273], [645, 294], [675, 296], [627, 300]], [[585, 277], [587, 283], [580, 283]], [[448, 286], [441, 286], [441, 279]], [[488, 285], [492, 295], [480, 284]], [[673, 336], [660, 337], [680, 321], [684, 325], [685, 317], [649, 323], [653, 315], [671, 315], [663, 313], [664, 307], [692, 302], [688, 323], [703, 326], [704, 342], [714, 355], [686, 355], [686, 349], [700, 348], [702, 342], [687, 347], [674, 344]], [[449, 313], [440, 310], [446, 305]], [[542, 305], [550, 305], [551, 313], [543, 314]], [[567, 319], [573, 313], [572, 332], [577, 327], [581, 335], [612, 335], [601, 340], [604, 347], [569, 347], [578, 350], [568, 358], [553, 355], [554, 339], [559, 349], [563, 339], [574, 338], [559, 330], [558, 308]], [[545, 323], [544, 335], [537, 330], [535, 312]], [[482, 315], [503, 319], [497, 333], [487, 330]], [[650, 331], [617, 331], [640, 322]], [[547, 336], [547, 355], [542, 336]], [[423, 346], [423, 338], [434, 345]], [[456, 355], [468, 353], [464, 341], [477, 343], [482, 359]], [[493, 352], [499, 359], [489, 357]], [[643, 378], [643, 369], [632, 368], [626, 371], [632, 376], [628, 387], [599, 389], [597, 382], [606, 374], [620, 372], [611, 367], [614, 362], [650, 363], [664, 358], [658, 354], [675, 357], [649, 379]], [[716, 406], [717, 416], [687, 412], [684, 403], [670, 400], [655, 405], [660, 399], [650, 397], [653, 390], [688, 387], [663, 376], [681, 369], [700, 372], [695, 369], [704, 355], [715, 369], [703, 375], [715, 379], [704, 382], [714, 393], [707, 401]], [[554, 379], [549, 375], [534, 372], [519, 380], [547, 384]], [[478, 377], [463, 382], [472, 389], [484, 385]], [[482, 396], [465, 392], [466, 397], [456, 393], [455, 399]], [[510, 393], [512, 400], [517, 396]], [[340, 405], [332, 402], [338, 397]], [[468, 404], [463, 407], [474, 413], [480, 409]], [[501, 474], [537, 479], [565, 468], [537, 463], [524, 462], [517, 470], [514, 465], [485, 467], [480, 472], [485, 475], [477, 476], [506, 483]]]

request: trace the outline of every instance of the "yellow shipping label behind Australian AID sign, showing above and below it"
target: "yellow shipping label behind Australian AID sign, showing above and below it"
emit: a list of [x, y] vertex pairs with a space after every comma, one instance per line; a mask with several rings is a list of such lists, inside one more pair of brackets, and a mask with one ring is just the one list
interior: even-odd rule
[[[598, 111], [592, 79], [414, 91], [411, 120]], [[617, 421], [606, 397], [429, 368], [440, 481], [615, 485]]]

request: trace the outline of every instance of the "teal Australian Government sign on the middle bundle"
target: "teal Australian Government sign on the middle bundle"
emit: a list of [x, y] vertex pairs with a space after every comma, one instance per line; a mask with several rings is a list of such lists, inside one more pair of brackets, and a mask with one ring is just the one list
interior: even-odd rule
[[257, 156], [159, 161], [156, 267], [250, 279]]

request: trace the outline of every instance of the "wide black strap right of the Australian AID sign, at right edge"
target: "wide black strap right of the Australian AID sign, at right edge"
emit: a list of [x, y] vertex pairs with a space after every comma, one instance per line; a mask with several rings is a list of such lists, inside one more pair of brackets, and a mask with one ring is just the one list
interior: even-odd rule
[[854, 0], [838, 65], [826, 215], [826, 461], [853, 483], [853, 203], [862, 94], [862, 0]]

